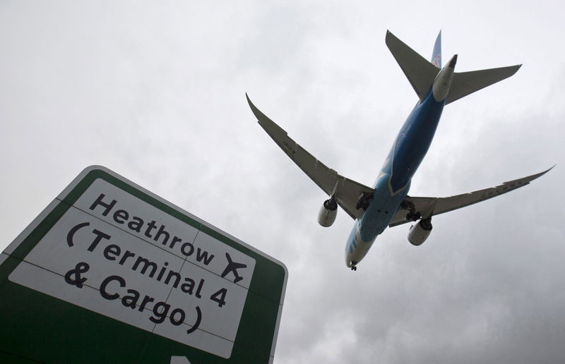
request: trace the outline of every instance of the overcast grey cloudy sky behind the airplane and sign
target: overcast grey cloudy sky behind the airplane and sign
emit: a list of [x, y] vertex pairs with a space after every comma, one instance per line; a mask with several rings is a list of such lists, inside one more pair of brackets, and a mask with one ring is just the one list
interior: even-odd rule
[[[565, 362], [561, 1], [0, 0], [3, 250], [101, 164], [287, 265], [275, 363]], [[508, 80], [444, 109], [410, 195], [448, 196], [558, 164], [385, 231], [345, 267], [352, 227], [256, 123], [245, 92], [322, 162], [372, 186], [417, 97], [386, 30], [456, 71]]]

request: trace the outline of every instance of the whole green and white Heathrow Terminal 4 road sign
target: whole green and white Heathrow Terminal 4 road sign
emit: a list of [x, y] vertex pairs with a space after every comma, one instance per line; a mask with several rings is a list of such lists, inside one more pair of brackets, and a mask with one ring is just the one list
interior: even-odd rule
[[283, 263], [91, 166], [0, 256], [0, 361], [269, 362], [286, 280]]

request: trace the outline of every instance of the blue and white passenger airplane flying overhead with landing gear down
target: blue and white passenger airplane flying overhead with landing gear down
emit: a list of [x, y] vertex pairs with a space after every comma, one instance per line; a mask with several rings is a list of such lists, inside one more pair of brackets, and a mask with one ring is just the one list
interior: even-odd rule
[[328, 194], [318, 214], [321, 226], [331, 226], [338, 206], [355, 220], [345, 245], [345, 265], [352, 271], [367, 255], [375, 239], [387, 227], [408, 222], [408, 241], [422, 245], [432, 231], [432, 217], [475, 204], [523, 187], [550, 169], [538, 174], [504, 182], [499, 186], [447, 198], [408, 195], [410, 182], [434, 138], [441, 111], [446, 104], [472, 92], [509, 78], [521, 65], [456, 73], [457, 54], [441, 67], [441, 31], [436, 38], [432, 61], [427, 61], [387, 30], [385, 42], [418, 96], [417, 104], [400, 129], [388, 153], [374, 187], [364, 186], [340, 176], [309, 152], [287, 132], [270, 120], [249, 99], [251, 111], [270, 138]]

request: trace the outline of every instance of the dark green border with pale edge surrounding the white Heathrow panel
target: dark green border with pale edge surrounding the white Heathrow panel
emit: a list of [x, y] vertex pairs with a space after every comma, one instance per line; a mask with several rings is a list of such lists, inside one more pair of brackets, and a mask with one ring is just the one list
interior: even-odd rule
[[[191, 364], [268, 363], [272, 360], [287, 281], [283, 263], [234, 241], [206, 222], [198, 222], [165, 200], [131, 186], [104, 167], [91, 166], [83, 174], [85, 176], [81, 178], [81, 174], [71, 183], [69, 193], [56, 200], [59, 203], [0, 264], [0, 362], [169, 363], [171, 356], [185, 356]], [[230, 358], [180, 344], [8, 280], [13, 269], [97, 178], [256, 260]]]

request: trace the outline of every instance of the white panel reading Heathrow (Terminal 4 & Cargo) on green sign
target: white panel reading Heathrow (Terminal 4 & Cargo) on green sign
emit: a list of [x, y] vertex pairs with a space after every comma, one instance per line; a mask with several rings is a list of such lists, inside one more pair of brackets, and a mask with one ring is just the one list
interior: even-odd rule
[[97, 179], [8, 279], [229, 358], [255, 264]]

